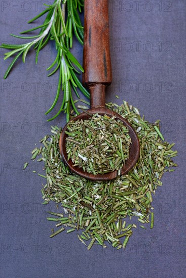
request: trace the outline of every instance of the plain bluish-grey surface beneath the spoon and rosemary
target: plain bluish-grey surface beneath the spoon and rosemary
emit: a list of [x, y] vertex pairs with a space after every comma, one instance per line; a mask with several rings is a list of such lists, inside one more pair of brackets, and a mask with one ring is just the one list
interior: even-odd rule
[[[28, 29], [25, 22], [43, 10], [43, 1], [1, 1], [1, 42]], [[47, 3], [52, 3], [48, 1]], [[91, 251], [76, 234], [50, 239], [54, 226], [42, 206], [42, 178], [30, 162], [34, 143], [48, 132], [44, 113], [53, 102], [58, 74], [48, 78], [45, 69], [55, 58], [52, 43], [39, 57], [31, 52], [25, 65], [19, 60], [7, 80], [10, 60], [1, 50], [1, 277], [64, 278], [182, 278], [185, 277], [185, 2], [109, 1], [113, 85], [107, 101], [125, 99], [149, 121], [161, 119], [165, 139], [175, 142], [179, 167], [163, 177], [153, 206], [155, 226], [135, 229], [126, 251]], [[38, 21], [40, 24], [40, 20]], [[82, 62], [82, 47], [73, 52]], [[117, 100], [114, 96], [120, 96]], [[60, 102], [54, 112], [57, 112]], [[53, 112], [53, 113], [54, 113]], [[54, 115], [54, 114], [53, 114]], [[61, 115], [52, 124], [64, 125]], [[29, 161], [27, 171], [22, 171]]]

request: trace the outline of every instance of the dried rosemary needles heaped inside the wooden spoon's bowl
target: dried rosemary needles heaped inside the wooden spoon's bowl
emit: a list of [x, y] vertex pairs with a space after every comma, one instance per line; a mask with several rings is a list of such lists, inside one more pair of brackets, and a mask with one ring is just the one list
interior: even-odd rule
[[129, 129], [115, 117], [97, 113], [88, 120], [70, 121], [65, 133], [68, 160], [94, 175], [114, 170], [120, 174], [129, 158]]

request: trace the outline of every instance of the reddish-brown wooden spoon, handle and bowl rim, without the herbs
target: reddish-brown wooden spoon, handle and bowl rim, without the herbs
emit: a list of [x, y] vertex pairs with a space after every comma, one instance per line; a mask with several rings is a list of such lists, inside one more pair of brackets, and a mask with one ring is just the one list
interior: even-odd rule
[[[139, 157], [139, 140], [132, 126], [118, 113], [105, 108], [105, 88], [111, 84], [111, 61], [109, 51], [109, 27], [108, 27], [108, 1], [107, 0], [85, 0], [85, 24], [84, 24], [84, 69], [83, 84], [89, 88], [91, 97], [91, 109], [88, 113], [82, 113], [72, 120], [87, 120], [90, 114], [106, 114], [116, 117], [129, 128], [132, 144], [130, 146], [129, 158], [121, 169], [121, 174], [126, 174], [136, 164]], [[73, 162], [67, 160], [66, 137], [67, 124], [63, 128], [59, 141], [60, 153], [64, 162], [71, 171], [92, 180], [110, 180], [116, 178], [118, 171], [106, 174], [85, 172], [83, 168], [73, 167]]]

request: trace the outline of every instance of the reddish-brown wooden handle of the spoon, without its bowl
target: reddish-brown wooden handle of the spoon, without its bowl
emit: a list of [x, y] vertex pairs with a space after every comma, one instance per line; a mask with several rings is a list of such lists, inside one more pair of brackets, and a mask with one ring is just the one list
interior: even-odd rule
[[91, 108], [105, 106], [111, 83], [108, 0], [85, 0], [83, 84], [90, 89]]

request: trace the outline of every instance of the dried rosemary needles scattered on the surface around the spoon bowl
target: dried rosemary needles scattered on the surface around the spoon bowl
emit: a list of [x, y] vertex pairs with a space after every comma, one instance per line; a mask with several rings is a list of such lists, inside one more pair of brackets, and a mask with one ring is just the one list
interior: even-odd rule
[[32, 152], [32, 159], [41, 154], [38, 161], [45, 162], [45, 175], [39, 174], [46, 180], [42, 189], [44, 204], [52, 200], [64, 209], [65, 215], [49, 212], [54, 217], [48, 220], [60, 227], [51, 237], [64, 230], [78, 231], [78, 238], [88, 250], [94, 243], [106, 247], [106, 241], [117, 249], [125, 248], [136, 228], [135, 224], [126, 224], [127, 216], [138, 217], [141, 228], [146, 223], [153, 228], [153, 194], [162, 186], [163, 173], [174, 171], [171, 167], [177, 166], [172, 161], [177, 151], [172, 150], [174, 144], [164, 141], [159, 121], [148, 123], [126, 102], [121, 106], [109, 103], [107, 107], [127, 118], [139, 137], [140, 157], [127, 175], [94, 182], [70, 172], [59, 154], [61, 129], [57, 126], [52, 127], [52, 135], [41, 140], [43, 146]]

